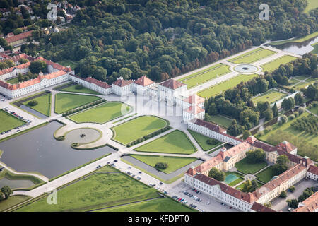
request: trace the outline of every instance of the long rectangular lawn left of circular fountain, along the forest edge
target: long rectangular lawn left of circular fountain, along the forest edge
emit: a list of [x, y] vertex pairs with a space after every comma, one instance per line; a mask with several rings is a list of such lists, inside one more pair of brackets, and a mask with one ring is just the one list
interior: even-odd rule
[[204, 71], [199, 71], [185, 78], [182, 78], [179, 81], [182, 81], [182, 83], [187, 84], [188, 88], [192, 88], [196, 85], [205, 83], [206, 81], [210, 81], [213, 78], [221, 76], [225, 73], [229, 73], [229, 68], [230, 66], [225, 64], [216, 64], [215, 66], [211, 66], [210, 68]]

